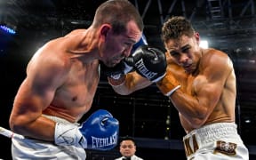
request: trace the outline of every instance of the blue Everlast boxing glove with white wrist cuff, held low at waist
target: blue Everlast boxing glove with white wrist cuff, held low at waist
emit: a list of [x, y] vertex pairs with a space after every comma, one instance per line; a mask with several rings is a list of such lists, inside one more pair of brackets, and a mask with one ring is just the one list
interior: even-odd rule
[[94, 112], [80, 126], [57, 123], [55, 125], [55, 144], [76, 146], [96, 150], [115, 148], [119, 134], [119, 123], [107, 110]]

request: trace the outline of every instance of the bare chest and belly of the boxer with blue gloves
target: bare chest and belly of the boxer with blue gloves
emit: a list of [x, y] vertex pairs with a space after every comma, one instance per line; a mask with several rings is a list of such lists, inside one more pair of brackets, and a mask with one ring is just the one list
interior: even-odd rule
[[92, 106], [92, 100], [100, 79], [99, 62], [83, 64], [74, 60], [65, 84], [55, 93], [54, 99], [43, 114], [59, 116], [69, 122], [77, 122]]

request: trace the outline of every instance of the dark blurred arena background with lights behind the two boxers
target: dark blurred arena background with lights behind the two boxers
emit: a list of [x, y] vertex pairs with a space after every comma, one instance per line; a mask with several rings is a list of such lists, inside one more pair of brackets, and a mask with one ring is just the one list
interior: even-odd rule
[[[164, 20], [183, 15], [192, 21], [202, 40], [227, 52], [237, 80], [236, 123], [256, 159], [256, 13], [255, 0], [130, 0], [144, 20], [148, 44], [163, 47]], [[9, 128], [13, 98], [25, 77], [28, 60], [45, 42], [75, 28], [87, 28], [103, 0], [0, 0], [0, 125]], [[127, 12], [129, 14], [129, 12]], [[217, 67], [218, 68], [218, 67]], [[90, 115], [108, 109], [120, 121], [120, 136], [138, 141], [137, 155], [145, 160], [185, 159], [185, 135], [178, 112], [152, 84], [129, 96], [116, 94], [102, 74]], [[84, 115], [86, 118], [87, 115]], [[12, 159], [11, 140], [0, 136], [0, 158]], [[88, 150], [87, 159], [113, 160], [118, 148]]]

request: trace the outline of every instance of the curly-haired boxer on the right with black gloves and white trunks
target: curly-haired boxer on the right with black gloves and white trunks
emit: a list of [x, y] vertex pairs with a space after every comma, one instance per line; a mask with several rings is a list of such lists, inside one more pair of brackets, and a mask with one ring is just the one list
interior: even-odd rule
[[164, 23], [162, 39], [165, 53], [139, 47], [125, 59], [135, 71], [108, 76], [113, 89], [126, 95], [156, 83], [179, 111], [188, 159], [248, 160], [236, 127], [236, 75], [228, 54], [201, 48], [199, 34], [180, 16]]

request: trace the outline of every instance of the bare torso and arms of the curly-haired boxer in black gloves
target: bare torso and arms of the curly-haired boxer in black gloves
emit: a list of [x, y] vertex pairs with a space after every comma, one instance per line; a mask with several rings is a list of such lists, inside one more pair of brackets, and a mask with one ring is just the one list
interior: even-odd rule
[[[170, 99], [179, 112], [185, 132], [205, 124], [235, 122], [236, 76], [232, 61], [226, 53], [214, 49], [202, 50], [199, 54], [202, 58], [196, 72], [188, 74], [172, 60], [169, 52], [165, 53], [166, 74], [171, 73], [181, 85]], [[127, 74], [124, 84], [113, 89], [127, 95], [150, 84], [152, 82], [132, 72]]]

